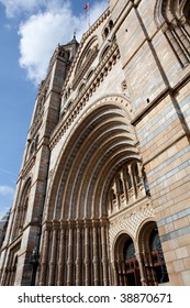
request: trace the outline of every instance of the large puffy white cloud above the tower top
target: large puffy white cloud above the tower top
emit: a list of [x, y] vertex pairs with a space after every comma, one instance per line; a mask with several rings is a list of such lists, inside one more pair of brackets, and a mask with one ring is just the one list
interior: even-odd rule
[[[31, 15], [19, 29], [20, 65], [26, 70], [29, 79], [35, 84], [40, 84], [45, 78], [49, 58], [58, 43], [69, 42], [75, 30], [77, 40], [80, 40], [88, 29], [86, 12], [78, 16], [74, 15], [69, 6], [70, 1], [46, 2], [46, 10]], [[107, 0], [97, 1], [91, 7], [91, 24], [107, 7]]]

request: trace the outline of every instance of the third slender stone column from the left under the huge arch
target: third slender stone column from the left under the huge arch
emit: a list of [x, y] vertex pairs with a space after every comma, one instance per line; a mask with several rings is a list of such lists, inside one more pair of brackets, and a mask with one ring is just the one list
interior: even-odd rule
[[58, 286], [64, 285], [64, 256], [65, 256], [65, 235], [66, 229], [63, 223], [60, 223], [60, 249], [59, 249], [59, 260], [58, 260]]

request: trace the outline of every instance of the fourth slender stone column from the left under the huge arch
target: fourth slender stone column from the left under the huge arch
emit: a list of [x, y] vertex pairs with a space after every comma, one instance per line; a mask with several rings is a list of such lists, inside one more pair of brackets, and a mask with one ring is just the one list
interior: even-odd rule
[[72, 227], [69, 223], [69, 234], [68, 234], [68, 258], [67, 258], [67, 286], [72, 284], [72, 263], [74, 263], [74, 238], [72, 238]]

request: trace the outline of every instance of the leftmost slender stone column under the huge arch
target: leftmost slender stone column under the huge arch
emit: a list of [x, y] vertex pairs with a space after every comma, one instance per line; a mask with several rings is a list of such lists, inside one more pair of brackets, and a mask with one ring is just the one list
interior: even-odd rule
[[49, 231], [44, 231], [44, 240], [43, 240], [43, 254], [41, 262], [41, 274], [40, 274], [40, 286], [46, 285], [46, 275], [47, 275], [47, 258], [48, 258], [48, 244], [49, 244]]

